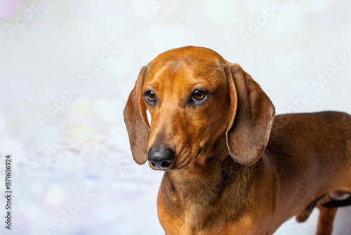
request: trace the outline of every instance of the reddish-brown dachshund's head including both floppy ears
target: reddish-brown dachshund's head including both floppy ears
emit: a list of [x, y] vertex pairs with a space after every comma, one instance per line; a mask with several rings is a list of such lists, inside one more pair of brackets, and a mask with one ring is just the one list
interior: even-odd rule
[[249, 74], [194, 46], [161, 53], [143, 67], [124, 109], [135, 162], [148, 159], [155, 170], [182, 169], [220, 138], [237, 163], [251, 165], [265, 150], [273, 119], [272, 102]]

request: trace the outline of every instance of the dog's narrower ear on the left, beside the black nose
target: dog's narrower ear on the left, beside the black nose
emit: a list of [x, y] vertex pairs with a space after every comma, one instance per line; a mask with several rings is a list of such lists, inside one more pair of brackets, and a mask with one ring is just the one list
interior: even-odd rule
[[145, 73], [146, 67], [143, 67], [135, 82], [135, 87], [129, 95], [126, 108], [124, 108], [124, 122], [127, 127], [133, 159], [139, 165], [146, 162], [147, 143], [150, 137], [150, 125], [147, 121], [146, 106], [142, 94]]

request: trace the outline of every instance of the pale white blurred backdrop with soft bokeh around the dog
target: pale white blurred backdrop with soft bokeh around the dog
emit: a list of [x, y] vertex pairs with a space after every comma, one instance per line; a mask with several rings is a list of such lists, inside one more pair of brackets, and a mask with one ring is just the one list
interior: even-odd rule
[[[341, 0], [0, 0], [0, 176], [11, 154], [13, 190], [0, 234], [164, 234], [162, 173], [133, 162], [122, 118], [140, 68], [205, 46], [277, 113], [351, 113], [350, 25]], [[314, 234], [317, 216], [275, 234]], [[333, 234], [351, 234], [350, 218], [338, 210]]]

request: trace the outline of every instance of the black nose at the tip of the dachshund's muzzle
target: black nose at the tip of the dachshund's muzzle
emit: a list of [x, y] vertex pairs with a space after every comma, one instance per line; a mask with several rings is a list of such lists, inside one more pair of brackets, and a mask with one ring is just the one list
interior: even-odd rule
[[174, 151], [171, 148], [150, 148], [147, 160], [155, 169], [167, 169], [174, 160]]

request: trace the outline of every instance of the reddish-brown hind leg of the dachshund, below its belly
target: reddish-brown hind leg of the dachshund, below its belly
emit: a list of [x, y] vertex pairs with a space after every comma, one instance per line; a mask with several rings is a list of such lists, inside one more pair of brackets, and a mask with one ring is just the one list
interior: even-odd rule
[[319, 219], [316, 235], [331, 235], [333, 229], [333, 220], [336, 214], [337, 208], [324, 208], [322, 206], [319, 209]]

